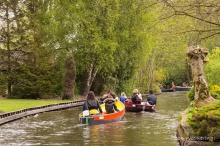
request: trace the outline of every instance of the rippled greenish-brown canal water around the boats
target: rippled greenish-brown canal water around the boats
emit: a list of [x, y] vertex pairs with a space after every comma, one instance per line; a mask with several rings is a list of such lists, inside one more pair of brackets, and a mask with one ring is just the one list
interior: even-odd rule
[[186, 92], [157, 95], [157, 112], [126, 112], [122, 121], [82, 126], [80, 108], [41, 113], [0, 126], [0, 146], [179, 146], [178, 116]]

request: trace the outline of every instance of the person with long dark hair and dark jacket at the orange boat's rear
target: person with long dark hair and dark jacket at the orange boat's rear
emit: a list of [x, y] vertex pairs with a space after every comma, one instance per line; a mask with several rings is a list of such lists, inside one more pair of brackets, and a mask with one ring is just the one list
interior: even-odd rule
[[102, 109], [100, 107], [99, 101], [95, 98], [95, 94], [93, 91], [89, 91], [86, 101], [83, 104], [83, 111], [96, 109], [102, 113]]

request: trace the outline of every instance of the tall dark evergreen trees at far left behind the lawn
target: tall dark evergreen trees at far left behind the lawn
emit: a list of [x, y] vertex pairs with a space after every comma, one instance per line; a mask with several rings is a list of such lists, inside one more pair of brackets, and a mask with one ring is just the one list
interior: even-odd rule
[[[51, 5], [52, 1], [41, 0], [2, 2], [1, 35], [3, 49], [7, 48], [8, 51], [8, 59], [4, 63], [8, 65], [9, 97], [41, 98], [45, 94], [61, 94], [61, 88], [57, 92], [56, 87], [60, 85], [55, 83], [62, 81], [62, 70], [58, 65], [62, 64], [60, 61], [63, 59], [57, 60], [60, 55], [55, 50], [56, 44], [52, 45], [51, 30], [46, 27], [50, 23], [48, 16], [51, 15], [48, 13]], [[6, 14], [10, 15], [6, 17]], [[20, 55], [19, 59], [12, 58], [11, 54], [16, 50], [25, 55]], [[57, 78], [60, 80], [57, 81]]]

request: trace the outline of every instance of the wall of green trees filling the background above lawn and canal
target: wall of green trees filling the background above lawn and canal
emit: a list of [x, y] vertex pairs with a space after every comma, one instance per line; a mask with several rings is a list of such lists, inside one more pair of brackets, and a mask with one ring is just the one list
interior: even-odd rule
[[1, 0], [0, 94], [61, 96], [68, 53], [76, 94], [190, 82], [186, 48], [219, 46], [218, 7], [212, 0]]

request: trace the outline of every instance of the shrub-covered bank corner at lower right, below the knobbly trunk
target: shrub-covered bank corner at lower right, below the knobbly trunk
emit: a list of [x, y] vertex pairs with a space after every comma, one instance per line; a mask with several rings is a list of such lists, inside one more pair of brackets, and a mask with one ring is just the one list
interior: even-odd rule
[[181, 146], [220, 145], [220, 102], [202, 108], [190, 107], [182, 112], [177, 127], [177, 137]]

